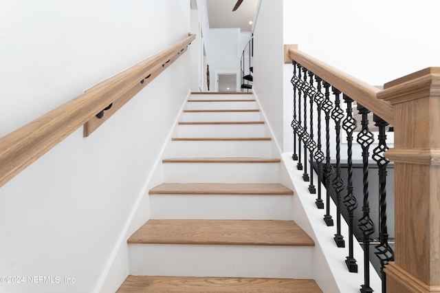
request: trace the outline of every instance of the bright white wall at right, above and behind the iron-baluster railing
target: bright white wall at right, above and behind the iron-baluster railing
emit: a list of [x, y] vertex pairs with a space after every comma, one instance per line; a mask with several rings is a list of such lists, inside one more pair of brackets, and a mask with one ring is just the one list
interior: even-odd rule
[[[371, 85], [440, 66], [440, 40], [432, 37], [439, 29], [439, 1], [286, 0], [284, 6], [284, 43], [299, 44]], [[292, 70], [285, 65], [285, 123], [292, 120]], [[292, 129], [285, 129], [284, 149], [292, 150]]]

